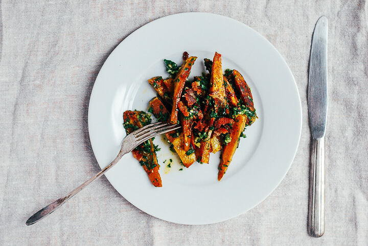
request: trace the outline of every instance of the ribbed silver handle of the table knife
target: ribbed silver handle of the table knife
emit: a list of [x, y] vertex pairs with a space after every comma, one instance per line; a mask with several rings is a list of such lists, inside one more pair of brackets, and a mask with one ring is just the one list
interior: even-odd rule
[[325, 232], [325, 136], [312, 137], [308, 231], [313, 237]]

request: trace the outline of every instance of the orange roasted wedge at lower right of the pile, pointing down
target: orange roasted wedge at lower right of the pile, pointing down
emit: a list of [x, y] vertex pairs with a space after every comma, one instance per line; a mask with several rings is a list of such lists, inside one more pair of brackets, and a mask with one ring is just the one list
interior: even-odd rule
[[224, 176], [228, 165], [233, 159], [234, 153], [238, 147], [240, 134], [243, 132], [247, 118], [243, 115], [237, 115], [232, 130], [229, 132], [231, 141], [224, 146], [221, 155], [220, 165], [218, 167], [218, 180]]

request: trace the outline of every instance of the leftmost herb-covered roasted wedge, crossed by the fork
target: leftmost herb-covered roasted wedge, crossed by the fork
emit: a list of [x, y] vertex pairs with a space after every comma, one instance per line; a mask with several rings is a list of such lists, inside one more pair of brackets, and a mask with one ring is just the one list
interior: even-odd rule
[[[125, 111], [123, 119], [124, 128], [127, 134], [151, 123], [150, 118], [142, 111]], [[132, 153], [134, 158], [141, 163], [151, 183], [156, 187], [162, 187], [161, 177], [158, 173], [159, 166], [157, 163], [156, 151], [152, 139], [137, 146]]]

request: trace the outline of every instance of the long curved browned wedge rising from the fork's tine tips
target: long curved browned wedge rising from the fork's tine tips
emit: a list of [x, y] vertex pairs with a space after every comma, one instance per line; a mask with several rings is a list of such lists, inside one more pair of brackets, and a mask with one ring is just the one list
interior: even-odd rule
[[192, 69], [192, 65], [194, 64], [197, 57], [188, 58], [183, 65], [181, 66], [179, 72], [176, 74], [174, 79], [174, 95], [173, 95], [173, 108], [171, 111], [171, 120], [172, 124], [177, 123], [177, 115], [178, 115], [178, 103], [181, 98], [181, 92], [185, 86], [185, 82], [190, 74]]

